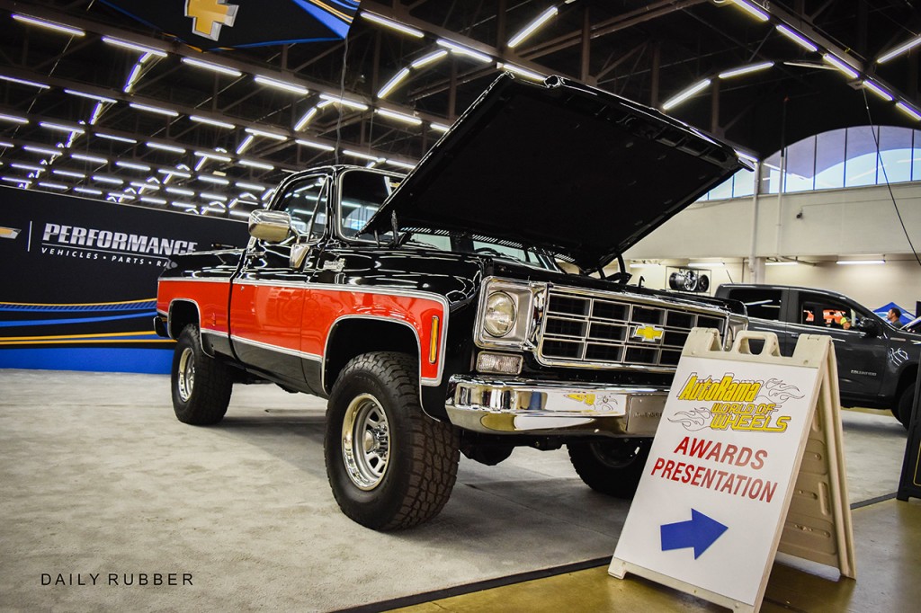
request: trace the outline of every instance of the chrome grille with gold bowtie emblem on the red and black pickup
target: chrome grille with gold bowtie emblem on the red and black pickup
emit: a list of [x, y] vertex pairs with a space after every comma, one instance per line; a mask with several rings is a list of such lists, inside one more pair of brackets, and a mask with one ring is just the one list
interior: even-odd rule
[[723, 334], [726, 317], [664, 301], [553, 288], [537, 356], [548, 365], [673, 369], [692, 328]]

